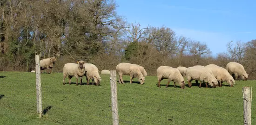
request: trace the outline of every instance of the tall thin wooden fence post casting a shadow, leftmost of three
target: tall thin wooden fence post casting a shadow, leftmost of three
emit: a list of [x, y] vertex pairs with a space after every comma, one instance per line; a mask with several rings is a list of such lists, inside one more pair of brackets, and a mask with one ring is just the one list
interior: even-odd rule
[[36, 104], [37, 113], [39, 113], [39, 118], [42, 117], [42, 93], [41, 93], [41, 71], [40, 71], [40, 60], [39, 55], [35, 55], [35, 73], [36, 73]]

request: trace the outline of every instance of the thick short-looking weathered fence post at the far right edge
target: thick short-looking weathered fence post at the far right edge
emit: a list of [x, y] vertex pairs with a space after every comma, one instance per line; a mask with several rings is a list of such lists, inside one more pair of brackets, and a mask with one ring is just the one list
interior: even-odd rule
[[251, 125], [251, 87], [243, 87], [243, 124]]

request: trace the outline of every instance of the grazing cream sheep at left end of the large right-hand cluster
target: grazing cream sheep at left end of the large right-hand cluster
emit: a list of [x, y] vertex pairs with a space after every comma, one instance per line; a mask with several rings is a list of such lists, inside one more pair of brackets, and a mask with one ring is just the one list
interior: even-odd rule
[[166, 88], [168, 87], [170, 81], [174, 82], [174, 87], [176, 87], [175, 83], [178, 82], [179, 85], [181, 85], [181, 88], [184, 89], [185, 87], [185, 82], [184, 78], [182, 77], [179, 69], [172, 68], [169, 66], [160, 66], [156, 70], [157, 73], [157, 79], [158, 79], [158, 87], [161, 88], [160, 82], [163, 79], [168, 79]]

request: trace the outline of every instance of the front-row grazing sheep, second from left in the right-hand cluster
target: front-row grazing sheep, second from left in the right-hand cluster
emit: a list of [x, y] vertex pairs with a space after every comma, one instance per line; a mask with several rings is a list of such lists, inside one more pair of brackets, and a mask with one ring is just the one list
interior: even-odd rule
[[[211, 87], [216, 88], [216, 85], [218, 84], [217, 79], [209, 72], [209, 69], [203, 67], [203, 66], [194, 66], [189, 67], [185, 71], [189, 87], [191, 88], [191, 81], [192, 80], [199, 80], [200, 85], [199, 88], [201, 88], [202, 82], [208, 82]], [[206, 88], [208, 88], [207, 83], [205, 83]]]

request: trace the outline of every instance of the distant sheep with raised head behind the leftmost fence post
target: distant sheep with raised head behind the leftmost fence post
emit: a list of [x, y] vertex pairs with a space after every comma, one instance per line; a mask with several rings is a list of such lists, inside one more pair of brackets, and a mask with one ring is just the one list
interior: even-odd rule
[[52, 73], [52, 68], [54, 67], [56, 60], [57, 60], [57, 58], [55, 58], [55, 57], [40, 60], [41, 72], [42, 72], [42, 70], [47, 69], [48, 73], [49, 73], [49, 70], [50, 70], [50, 73]]

